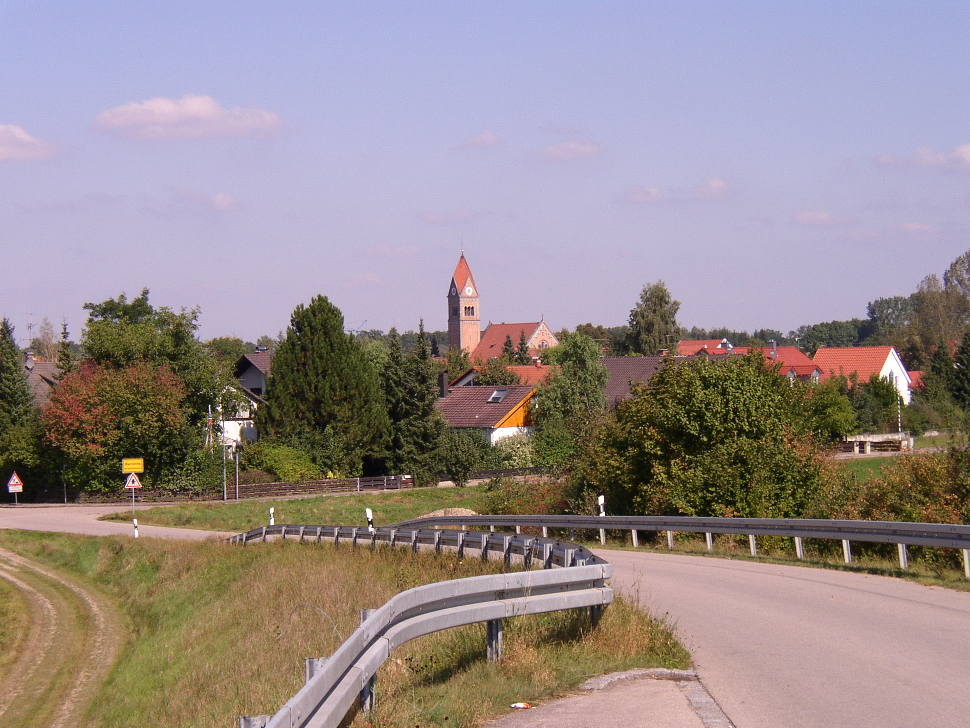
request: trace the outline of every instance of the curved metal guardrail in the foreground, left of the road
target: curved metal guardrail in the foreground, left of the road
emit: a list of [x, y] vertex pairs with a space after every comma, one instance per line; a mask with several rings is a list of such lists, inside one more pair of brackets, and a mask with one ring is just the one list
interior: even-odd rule
[[[226, 541], [243, 546], [269, 537], [301, 541], [387, 544], [416, 551], [419, 546], [454, 547], [459, 558], [477, 550], [480, 558], [501, 554], [505, 564], [522, 557], [525, 571], [439, 581], [408, 589], [375, 611], [362, 611], [361, 626], [329, 658], [307, 659], [307, 682], [275, 715], [241, 717], [241, 728], [337, 728], [354, 701], [372, 703], [373, 679], [391, 651], [423, 635], [476, 622], [488, 623], [488, 655], [501, 659], [505, 617], [589, 608], [596, 622], [613, 590], [605, 579], [609, 562], [583, 546], [555, 539], [508, 533], [385, 526], [277, 525], [254, 529]], [[540, 565], [541, 571], [533, 571]], [[554, 566], [563, 567], [554, 569]], [[368, 613], [364, 613], [368, 612]]]

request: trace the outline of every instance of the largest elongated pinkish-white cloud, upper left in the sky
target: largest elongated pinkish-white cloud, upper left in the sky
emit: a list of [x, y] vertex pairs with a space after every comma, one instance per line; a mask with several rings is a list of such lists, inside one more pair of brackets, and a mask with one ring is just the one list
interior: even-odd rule
[[107, 109], [94, 125], [136, 139], [210, 139], [213, 137], [271, 136], [283, 119], [257, 107], [225, 109], [210, 96], [132, 101]]

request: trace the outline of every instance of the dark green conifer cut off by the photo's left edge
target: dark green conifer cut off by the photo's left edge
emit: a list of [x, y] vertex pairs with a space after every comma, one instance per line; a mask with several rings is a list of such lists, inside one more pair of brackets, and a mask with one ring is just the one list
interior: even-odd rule
[[0, 486], [16, 470], [34, 480], [41, 462], [37, 408], [8, 318], [0, 321]]

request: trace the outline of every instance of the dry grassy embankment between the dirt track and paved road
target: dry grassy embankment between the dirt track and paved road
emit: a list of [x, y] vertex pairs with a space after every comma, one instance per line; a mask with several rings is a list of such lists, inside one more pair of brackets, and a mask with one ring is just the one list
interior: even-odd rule
[[[302, 686], [303, 658], [332, 654], [358, 610], [422, 583], [501, 571], [501, 561], [459, 562], [449, 552], [292, 541], [2, 531], [0, 545], [94, 582], [126, 614], [128, 643], [87, 715], [105, 728], [229, 728], [238, 715], [273, 713]], [[622, 597], [596, 629], [585, 611], [508, 619], [504, 655], [485, 661], [484, 625], [405, 644], [378, 674], [376, 710], [352, 724], [472, 726], [591, 675], [690, 663], [663, 623]]]

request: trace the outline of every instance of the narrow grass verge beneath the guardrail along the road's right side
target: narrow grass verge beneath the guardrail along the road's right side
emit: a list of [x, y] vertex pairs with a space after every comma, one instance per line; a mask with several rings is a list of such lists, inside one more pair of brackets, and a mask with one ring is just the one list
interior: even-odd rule
[[[839, 541], [805, 539], [805, 558], [798, 559], [794, 554], [794, 541], [780, 536], [758, 537], [757, 556], [751, 555], [747, 536], [716, 535], [713, 551], [707, 550], [703, 534], [675, 534], [672, 551], [666, 547], [665, 534], [658, 534], [656, 539], [653, 540], [648, 538], [645, 541], [644, 537], [647, 537], [647, 534], [641, 531], [640, 546], [633, 548], [629, 531], [607, 531], [606, 546], [600, 546], [597, 536], [577, 532], [576, 543], [583, 544], [592, 550], [614, 549], [680, 553], [708, 558], [727, 558], [814, 569], [833, 569], [857, 574], [896, 577], [926, 586], [944, 586], [955, 591], [970, 591], [970, 579], [963, 575], [962, 567], [954, 566], [957, 559], [952, 553], [954, 549], [910, 546], [909, 568], [900, 569], [899, 562], [896, 560], [896, 546], [894, 544], [866, 544], [854, 541], [852, 544], [853, 561], [851, 564], [846, 564], [843, 561], [842, 544]], [[952, 558], [948, 558], [947, 554]]]

